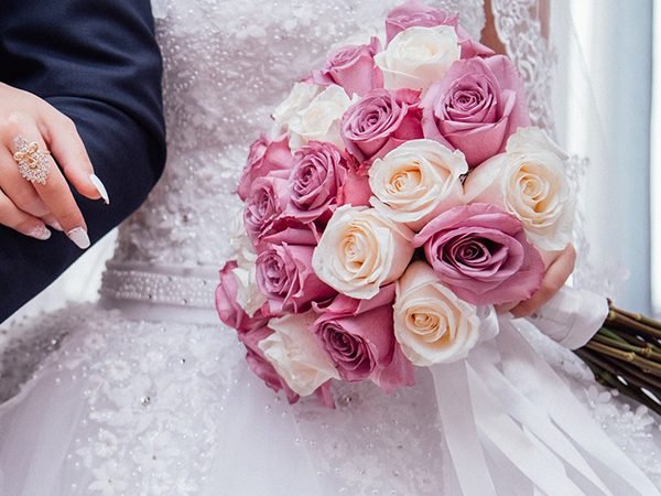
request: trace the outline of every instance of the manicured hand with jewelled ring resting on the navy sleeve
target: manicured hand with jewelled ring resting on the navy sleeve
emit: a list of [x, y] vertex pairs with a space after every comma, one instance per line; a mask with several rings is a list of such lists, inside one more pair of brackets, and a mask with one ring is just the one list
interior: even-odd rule
[[[87, 226], [65, 177], [88, 198], [104, 197], [107, 202], [107, 194], [94, 175], [74, 122], [35, 95], [2, 83], [0, 109], [0, 224], [42, 240], [51, 236], [47, 224], [87, 248]], [[21, 174], [14, 158], [17, 151], [20, 153], [17, 138], [35, 142], [40, 152], [52, 153], [41, 155], [50, 163], [45, 184]], [[40, 158], [32, 151], [28, 155]]]

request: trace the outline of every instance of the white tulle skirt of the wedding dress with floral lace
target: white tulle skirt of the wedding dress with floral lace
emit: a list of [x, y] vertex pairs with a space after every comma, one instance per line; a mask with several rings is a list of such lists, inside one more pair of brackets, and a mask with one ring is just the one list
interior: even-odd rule
[[[457, 494], [426, 370], [390, 396], [339, 385], [332, 410], [274, 395], [220, 324], [79, 305], [22, 332], [35, 335], [54, 336], [57, 349], [0, 407], [2, 495]], [[542, 336], [530, 339], [661, 482], [650, 414], [615, 402]]]

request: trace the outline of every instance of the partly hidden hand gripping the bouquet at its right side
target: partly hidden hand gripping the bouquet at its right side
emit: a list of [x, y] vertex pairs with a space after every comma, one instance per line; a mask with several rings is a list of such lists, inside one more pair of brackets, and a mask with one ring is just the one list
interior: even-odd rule
[[541, 288], [529, 300], [496, 305], [498, 313], [510, 312], [516, 317], [532, 315], [561, 290], [574, 271], [576, 250], [573, 245], [562, 251], [542, 251], [541, 255], [546, 267]]

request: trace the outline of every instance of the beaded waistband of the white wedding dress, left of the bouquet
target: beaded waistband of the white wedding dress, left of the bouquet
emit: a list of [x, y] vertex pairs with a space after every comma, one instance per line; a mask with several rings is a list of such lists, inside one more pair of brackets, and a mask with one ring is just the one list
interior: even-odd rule
[[218, 323], [215, 289], [218, 272], [209, 267], [166, 267], [108, 262], [101, 304], [149, 321]]

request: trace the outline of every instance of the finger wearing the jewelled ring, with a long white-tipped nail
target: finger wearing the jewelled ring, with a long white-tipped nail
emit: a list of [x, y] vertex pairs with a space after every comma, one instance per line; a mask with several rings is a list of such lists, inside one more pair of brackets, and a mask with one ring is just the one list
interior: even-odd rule
[[[35, 142], [39, 147], [40, 153], [43, 153], [47, 150], [41, 133], [32, 120], [25, 119], [21, 121], [18, 126], [17, 132], [17, 136], [22, 137], [29, 143]], [[12, 151], [21, 152], [21, 150], [17, 150], [15, 148], [17, 144], [13, 143]], [[89, 237], [87, 236], [87, 226], [85, 225], [83, 214], [80, 213], [80, 209], [74, 200], [74, 195], [72, 194], [64, 175], [57, 168], [57, 164], [50, 155], [45, 157], [46, 163], [50, 168], [45, 184], [33, 182], [32, 185], [44, 204], [48, 207], [55, 219], [59, 223], [66, 235], [79, 248], [85, 249], [89, 247]]]

